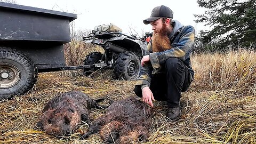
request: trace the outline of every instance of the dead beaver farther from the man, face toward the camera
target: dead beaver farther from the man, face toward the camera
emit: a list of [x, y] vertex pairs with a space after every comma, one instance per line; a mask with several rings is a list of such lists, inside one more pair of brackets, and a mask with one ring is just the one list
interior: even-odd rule
[[69, 91], [52, 98], [45, 105], [36, 127], [57, 137], [73, 133], [81, 121], [90, 124], [89, 109], [97, 105], [81, 91]]

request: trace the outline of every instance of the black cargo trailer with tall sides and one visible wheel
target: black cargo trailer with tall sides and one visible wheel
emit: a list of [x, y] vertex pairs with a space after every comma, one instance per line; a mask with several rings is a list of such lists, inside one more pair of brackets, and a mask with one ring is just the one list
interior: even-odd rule
[[0, 99], [30, 90], [37, 73], [66, 68], [76, 14], [0, 2]]

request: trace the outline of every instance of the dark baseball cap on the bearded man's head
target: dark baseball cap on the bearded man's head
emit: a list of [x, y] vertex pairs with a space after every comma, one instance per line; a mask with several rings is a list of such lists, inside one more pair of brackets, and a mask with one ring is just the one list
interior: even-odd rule
[[143, 23], [148, 25], [150, 22], [160, 18], [173, 18], [172, 10], [164, 5], [157, 6], [152, 10], [150, 18], [143, 20]]

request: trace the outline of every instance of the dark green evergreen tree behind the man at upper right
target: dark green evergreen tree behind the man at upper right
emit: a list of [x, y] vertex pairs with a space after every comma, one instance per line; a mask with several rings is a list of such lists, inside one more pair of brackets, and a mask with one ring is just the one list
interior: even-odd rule
[[201, 41], [217, 46], [240, 43], [249, 46], [256, 41], [255, 0], [197, 0], [205, 14], [195, 14], [196, 22], [204, 22], [211, 30], [202, 30]]

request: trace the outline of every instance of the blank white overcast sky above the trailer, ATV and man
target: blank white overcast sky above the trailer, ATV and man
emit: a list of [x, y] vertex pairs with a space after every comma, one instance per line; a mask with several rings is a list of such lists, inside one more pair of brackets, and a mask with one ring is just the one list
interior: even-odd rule
[[137, 33], [151, 32], [150, 25], [144, 25], [143, 19], [150, 17], [154, 7], [165, 5], [173, 11], [173, 19], [178, 20], [182, 25], [194, 26], [196, 33], [206, 29], [203, 24], [196, 24], [193, 14], [204, 13], [198, 7], [196, 0], [16, 0], [17, 4], [39, 7], [55, 11], [76, 13], [77, 19], [75, 29], [92, 30], [94, 26], [114, 23], [120, 27], [124, 33], [129, 33], [129, 27], [135, 29]]

